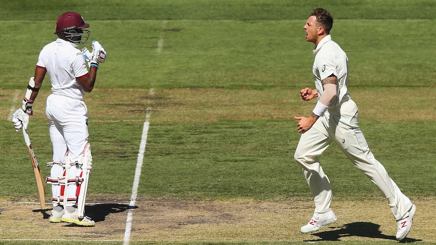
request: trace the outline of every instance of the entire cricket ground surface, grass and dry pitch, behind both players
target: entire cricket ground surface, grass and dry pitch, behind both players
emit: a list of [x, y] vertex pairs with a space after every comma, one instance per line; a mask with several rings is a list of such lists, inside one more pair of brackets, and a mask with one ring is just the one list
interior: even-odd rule
[[[0, 6], [0, 243], [397, 243], [382, 193], [335, 145], [321, 161], [339, 219], [314, 234], [299, 232], [314, 207], [293, 160], [299, 139], [293, 117], [314, 107], [301, 101], [299, 89], [314, 86], [313, 44], [302, 26], [316, 7], [335, 18], [331, 34], [350, 60], [350, 93], [371, 150], [417, 204], [407, 241], [436, 243], [436, 2], [0, 0]], [[10, 121], [66, 11], [81, 13], [90, 39], [108, 52], [84, 100], [94, 158], [86, 206], [97, 222], [92, 228], [48, 222], [22, 134]], [[50, 92], [46, 77], [29, 124], [46, 176]], [[129, 206], [138, 166], [138, 195]]]

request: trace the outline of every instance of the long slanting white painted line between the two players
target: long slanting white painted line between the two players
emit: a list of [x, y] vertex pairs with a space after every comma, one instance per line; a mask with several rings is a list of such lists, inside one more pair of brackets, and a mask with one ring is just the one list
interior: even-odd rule
[[[150, 108], [147, 108], [150, 111]], [[147, 144], [148, 128], [150, 126], [150, 114], [146, 114], [146, 120], [142, 130], [141, 144], [139, 146], [138, 161], [136, 163], [135, 178], [133, 180], [132, 197], [128, 207], [127, 220], [125, 222], [124, 242], [123, 245], [128, 245], [130, 242], [130, 232], [132, 231], [133, 210], [135, 207], [136, 198], [138, 195], [139, 177], [141, 175], [142, 164], [144, 162], [145, 145]]]

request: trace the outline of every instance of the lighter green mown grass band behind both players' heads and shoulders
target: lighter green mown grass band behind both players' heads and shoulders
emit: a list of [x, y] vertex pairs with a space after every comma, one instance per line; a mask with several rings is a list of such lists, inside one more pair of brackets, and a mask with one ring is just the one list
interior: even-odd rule
[[[312, 79], [313, 44], [304, 41], [304, 21], [90, 21], [91, 38], [99, 39], [108, 52], [97, 85], [299, 88]], [[20, 89], [28, 81], [39, 49], [55, 39], [52, 22], [2, 23], [2, 39], [8, 42], [0, 55], [8, 59], [0, 61], [4, 70], [0, 87]], [[434, 84], [428, 74], [436, 72], [436, 58], [422, 48], [432, 42], [431, 35], [421, 33], [434, 30], [434, 24], [434, 20], [338, 20], [332, 35], [348, 54], [353, 86], [418, 87]], [[382, 28], [385, 25], [389, 31]], [[29, 38], [21, 30], [38, 28], [43, 31], [32, 35], [35, 41], [26, 42], [24, 53], [15, 55]], [[163, 50], [157, 53], [159, 39]]]

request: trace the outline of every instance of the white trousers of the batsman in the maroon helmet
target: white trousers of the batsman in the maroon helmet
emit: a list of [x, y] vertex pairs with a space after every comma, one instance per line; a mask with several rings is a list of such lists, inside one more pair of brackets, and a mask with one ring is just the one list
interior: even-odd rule
[[[50, 124], [50, 138], [53, 144], [53, 161], [62, 162], [68, 150], [69, 163], [80, 160], [85, 144], [88, 143], [88, 109], [83, 101], [71, 99], [70, 97], [50, 94], [47, 97], [46, 116]], [[80, 176], [81, 168], [71, 166], [68, 171], [68, 179]], [[51, 178], [59, 178], [63, 175], [63, 168], [53, 165]], [[60, 196], [61, 186], [52, 185], [53, 202]], [[75, 200], [77, 197], [77, 186], [68, 185], [67, 199]], [[73, 203], [69, 203], [73, 205]]]

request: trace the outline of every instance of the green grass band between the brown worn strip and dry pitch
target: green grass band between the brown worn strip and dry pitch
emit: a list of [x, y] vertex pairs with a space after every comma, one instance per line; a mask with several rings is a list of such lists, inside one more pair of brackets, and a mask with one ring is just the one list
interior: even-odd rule
[[[92, 122], [92, 121], [91, 121]], [[2, 127], [11, 128], [10, 122]], [[366, 122], [362, 127], [376, 158], [410, 198], [434, 197], [436, 181], [423, 178], [421, 166], [433, 173], [432, 144], [422, 144], [436, 123], [421, 123], [407, 133], [407, 123]], [[45, 121], [31, 122], [34, 151], [45, 175], [51, 161]], [[94, 168], [89, 193], [128, 195], [132, 188], [141, 122], [106, 122], [90, 129]], [[21, 133], [2, 137], [1, 198], [19, 199], [35, 193], [35, 183]], [[397, 132], [403, 132], [398, 134]], [[116, 133], [110, 133], [116, 132]], [[382, 132], [382, 133], [381, 133]], [[401, 140], [398, 140], [401, 137]], [[310, 199], [301, 170], [293, 160], [298, 134], [288, 120], [220, 121], [151, 124], [139, 194], [174, 199]], [[335, 145], [321, 157], [336, 198], [380, 198], [381, 192]], [[27, 178], [16, 179], [10, 173]], [[405, 178], [404, 176], [407, 176]], [[19, 184], [17, 184], [17, 181]], [[32, 186], [22, 188], [22, 186]], [[351, 193], [353, 193], [351, 195]]]

